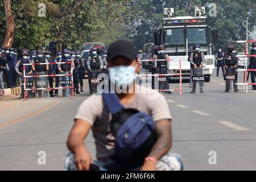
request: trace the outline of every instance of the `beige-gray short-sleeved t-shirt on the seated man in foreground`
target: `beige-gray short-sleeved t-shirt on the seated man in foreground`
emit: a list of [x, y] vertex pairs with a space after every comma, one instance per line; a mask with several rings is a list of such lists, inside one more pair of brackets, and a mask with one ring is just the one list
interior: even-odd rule
[[[152, 89], [140, 87], [141, 92], [137, 93], [128, 105], [124, 107], [137, 109], [151, 115], [154, 121], [160, 119], [172, 119], [168, 104], [164, 96]], [[148, 97], [155, 94], [156, 97]], [[154, 99], [150, 99], [154, 98]], [[96, 143], [97, 160], [108, 162], [109, 157], [114, 154], [114, 137], [110, 133], [109, 122], [111, 114], [104, 104], [101, 94], [93, 94], [82, 102], [75, 119], [83, 119], [92, 125], [93, 137]]]

